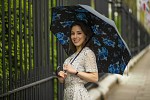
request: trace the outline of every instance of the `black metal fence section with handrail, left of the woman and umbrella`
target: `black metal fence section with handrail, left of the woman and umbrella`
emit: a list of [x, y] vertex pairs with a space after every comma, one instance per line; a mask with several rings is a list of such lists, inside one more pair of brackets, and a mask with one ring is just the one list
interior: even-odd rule
[[[56, 39], [50, 35], [49, 0], [0, 1], [0, 100], [56, 98]], [[56, 90], [56, 91], [54, 91]]]

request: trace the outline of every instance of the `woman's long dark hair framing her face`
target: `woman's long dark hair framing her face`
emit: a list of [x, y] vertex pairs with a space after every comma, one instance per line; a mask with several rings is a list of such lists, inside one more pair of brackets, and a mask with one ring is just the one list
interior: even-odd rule
[[[72, 25], [70, 26], [70, 33], [71, 33], [71, 29], [73, 26], [80, 26], [81, 30], [83, 31], [83, 33], [86, 35], [86, 39], [83, 43], [83, 46], [86, 44], [86, 42], [88, 42], [86, 44], [86, 47], [90, 47], [90, 42], [88, 41], [91, 36], [92, 36], [92, 30], [91, 28], [83, 21], [75, 21], [74, 23], [72, 23]], [[69, 43], [69, 52], [72, 51], [72, 52], [75, 52], [76, 51], [76, 47], [75, 45], [72, 43], [71, 41], [71, 34], [70, 34], [70, 43]]]

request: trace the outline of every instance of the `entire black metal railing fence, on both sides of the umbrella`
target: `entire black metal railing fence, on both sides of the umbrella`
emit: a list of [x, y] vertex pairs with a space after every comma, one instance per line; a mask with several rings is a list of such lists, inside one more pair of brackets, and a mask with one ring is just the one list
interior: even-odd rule
[[115, 20], [133, 55], [150, 43], [148, 32], [121, 2], [116, 6], [107, 0], [1, 0], [0, 100], [62, 100], [63, 86], [54, 72], [66, 55], [50, 33], [50, 8], [79, 3], [94, 4]]

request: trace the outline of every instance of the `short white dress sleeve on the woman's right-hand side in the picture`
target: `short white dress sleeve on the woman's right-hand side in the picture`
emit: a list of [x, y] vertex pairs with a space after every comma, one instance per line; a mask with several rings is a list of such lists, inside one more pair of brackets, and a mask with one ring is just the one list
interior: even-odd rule
[[96, 57], [92, 50], [85, 51], [85, 70], [86, 72], [98, 72]]

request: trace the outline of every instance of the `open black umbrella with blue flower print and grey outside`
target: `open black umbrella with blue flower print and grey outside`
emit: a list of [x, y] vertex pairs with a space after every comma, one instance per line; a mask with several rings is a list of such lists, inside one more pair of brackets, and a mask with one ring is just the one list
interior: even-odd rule
[[93, 31], [90, 41], [99, 73], [122, 75], [131, 54], [115, 23], [87, 5], [53, 7], [50, 29], [68, 55], [72, 54], [68, 49], [70, 26], [75, 21], [86, 22]]

